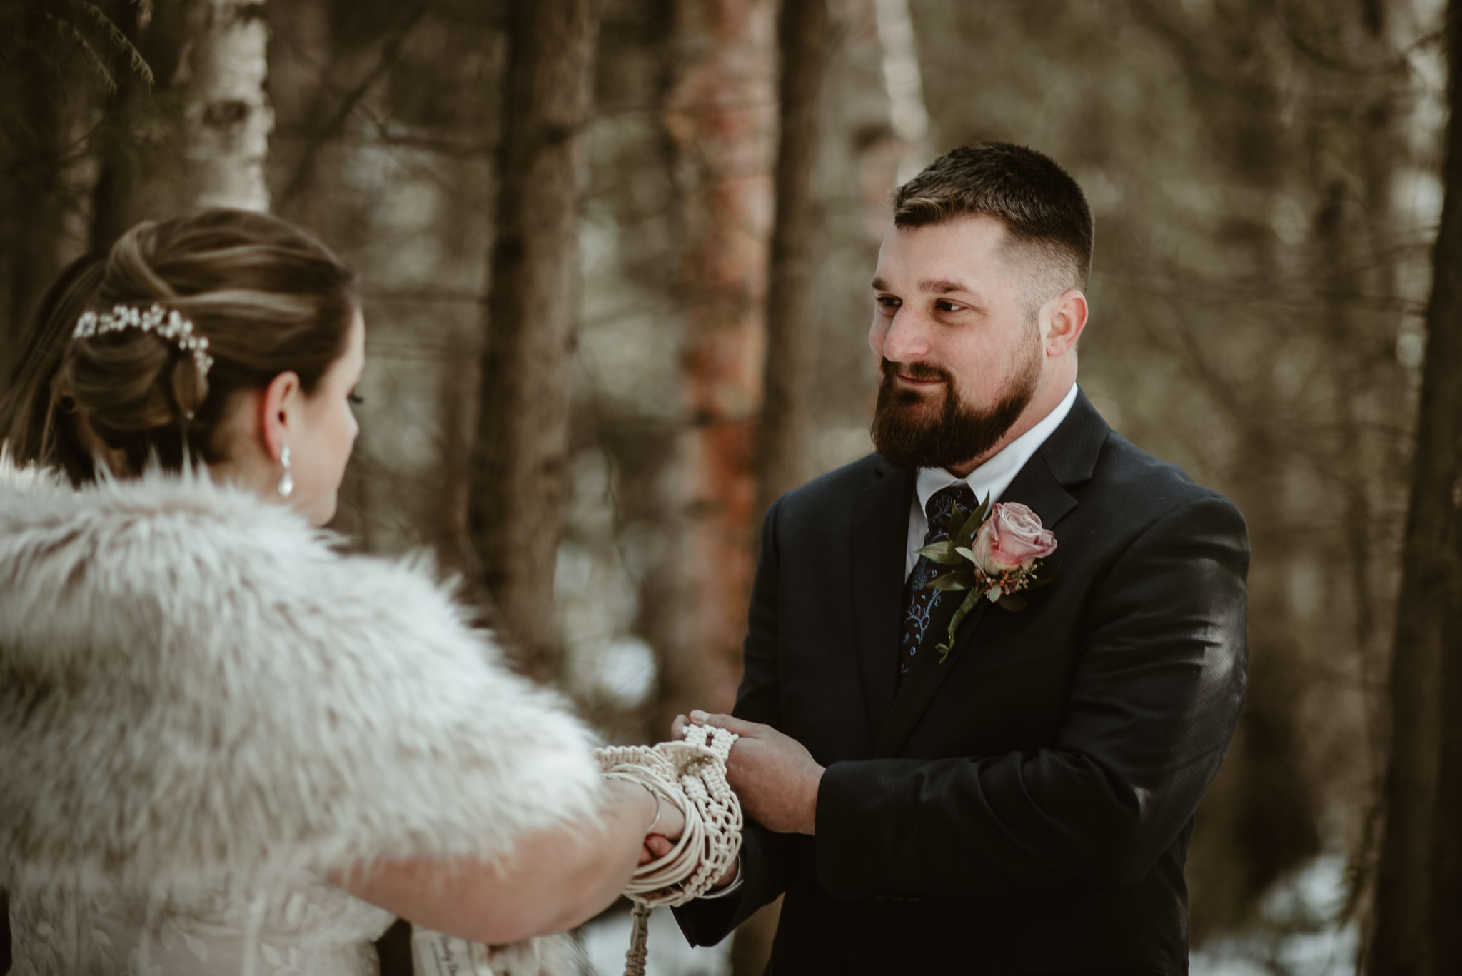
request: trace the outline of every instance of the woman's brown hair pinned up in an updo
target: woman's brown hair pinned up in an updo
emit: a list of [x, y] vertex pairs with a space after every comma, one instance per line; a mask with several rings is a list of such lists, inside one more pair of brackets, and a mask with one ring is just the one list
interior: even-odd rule
[[227, 459], [219, 426], [237, 392], [263, 389], [287, 370], [306, 395], [314, 391], [345, 351], [355, 274], [276, 217], [208, 209], [139, 224], [117, 240], [86, 310], [117, 306], [158, 306], [192, 322], [193, 337], [208, 339], [206, 378], [193, 353], [156, 329], [77, 337], [51, 383], [53, 424], [86, 424], [126, 473], [178, 470], [187, 458]]

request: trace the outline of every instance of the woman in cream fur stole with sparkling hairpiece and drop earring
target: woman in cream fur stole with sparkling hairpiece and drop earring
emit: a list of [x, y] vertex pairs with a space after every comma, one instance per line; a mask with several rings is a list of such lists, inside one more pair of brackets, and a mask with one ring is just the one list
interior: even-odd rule
[[48, 315], [58, 364], [35, 338], [0, 417], [50, 462], [0, 468], [16, 976], [363, 976], [395, 916], [561, 932], [678, 837], [427, 566], [314, 528], [364, 367], [329, 250], [259, 214], [142, 224]]

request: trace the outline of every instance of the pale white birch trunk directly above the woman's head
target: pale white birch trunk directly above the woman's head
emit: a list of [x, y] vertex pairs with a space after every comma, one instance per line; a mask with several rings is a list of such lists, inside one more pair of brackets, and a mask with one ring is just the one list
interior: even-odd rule
[[197, 206], [269, 209], [265, 94], [269, 26], [259, 0], [197, 0], [175, 83], [186, 86], [183, 154]]

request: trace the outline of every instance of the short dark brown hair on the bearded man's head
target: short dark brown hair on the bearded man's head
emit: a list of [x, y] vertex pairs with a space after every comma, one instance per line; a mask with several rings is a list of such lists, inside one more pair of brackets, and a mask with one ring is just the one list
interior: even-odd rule
[[950, 149], [893, 192], [895, 227], [984, 214], [1010, 239], [1067, 266], [1085, 288], [1092, 266], [1092, 212], [1076, 180], [1050, 157], [1009, 142]]

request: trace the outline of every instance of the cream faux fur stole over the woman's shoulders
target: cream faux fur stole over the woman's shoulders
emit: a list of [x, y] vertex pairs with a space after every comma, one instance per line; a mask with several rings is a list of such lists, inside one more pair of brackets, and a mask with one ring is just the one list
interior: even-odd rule
[[206, 477], [0, 462], [0, 887], [493, 857], [589, 818], [588, 730], [421, 560]]

